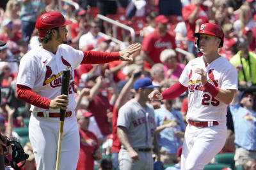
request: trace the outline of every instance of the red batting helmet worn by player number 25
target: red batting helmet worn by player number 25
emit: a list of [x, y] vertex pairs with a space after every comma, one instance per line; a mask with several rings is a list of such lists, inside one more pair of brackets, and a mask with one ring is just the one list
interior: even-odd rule
[[222, 29], [219, 25], [211, 24], [211, 23], [202, 24], [200, 26], [199, 32], [196, 32], [195, 34], [193, 34], [193, 36], [198, 38], [198, 41], [196, 41], [198, 46], [199, 46], [200, 34], [209, 34], [212, 36], [217, 36], [218, 38], [221, 39], [219, 48], [223, 46], [224, 32], [222, 31]]

